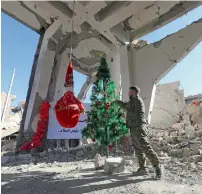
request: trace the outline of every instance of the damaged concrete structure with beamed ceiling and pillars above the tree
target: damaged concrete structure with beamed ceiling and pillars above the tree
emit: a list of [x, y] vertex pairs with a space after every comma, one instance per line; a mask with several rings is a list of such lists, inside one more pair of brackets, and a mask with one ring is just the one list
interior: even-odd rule
[[136, 40], [199, 6], [200, 1], [3, 1], [4, 13], [41, 35], [20, 136], [33, 134], [44, 99], [53, 102], [63, 95], [71, 34], [73, 67], [87, 76], [79, 99], [85, 97], [104, 55], [123, 100], [130, 85], [141, 88], [150, 122], [156, 84], [201, 42], [202, 19], [153, 44], [138, 46]]

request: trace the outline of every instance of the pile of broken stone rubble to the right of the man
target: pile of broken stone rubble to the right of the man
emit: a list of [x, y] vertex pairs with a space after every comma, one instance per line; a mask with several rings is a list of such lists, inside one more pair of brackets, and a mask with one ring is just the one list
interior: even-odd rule
[[167, 153], [202, 169], [202, 101], [199, 102], [196, 107], [193, 103], [186, 107], [179, 123], [167, 130], [152, 128], [149, 136], [157, 153]]

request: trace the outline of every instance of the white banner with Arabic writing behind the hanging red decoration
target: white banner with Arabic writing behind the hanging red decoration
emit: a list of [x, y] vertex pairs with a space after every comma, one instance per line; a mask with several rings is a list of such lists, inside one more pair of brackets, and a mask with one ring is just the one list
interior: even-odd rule
[[[90, 110], [90, 104], [84, 103], [83, 104], [86, 111]], [[51, 108], [49, 110], [49, 122], [48, 122], [48, 134], [47, 139], [81, 139], [82, 134], [81, 130], [86, 127], [86, 122], [78, 122], [76, 127], [74, 128], [63, 128], [58, 123], [55, 113], [53, 111], [53, 107], [55, 106], [55, 103], [51, 104]], [[81, 114], [79, 121], [84, 121], [87, 119], [86, 114]]]

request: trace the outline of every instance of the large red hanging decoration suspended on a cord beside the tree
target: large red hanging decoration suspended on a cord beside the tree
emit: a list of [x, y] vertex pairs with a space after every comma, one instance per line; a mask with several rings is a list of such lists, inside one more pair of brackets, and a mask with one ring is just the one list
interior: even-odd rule
[[[73, 88], [73, 85], [73, 67], [72, 62], [69, 62], [65, 87]], [[64, 128], [74, 128], [79, 122], [80, 114], [84, 111], [83, 104], [74, 96], [72, 91], [67, 91], [55, 105], [56, 119]]]

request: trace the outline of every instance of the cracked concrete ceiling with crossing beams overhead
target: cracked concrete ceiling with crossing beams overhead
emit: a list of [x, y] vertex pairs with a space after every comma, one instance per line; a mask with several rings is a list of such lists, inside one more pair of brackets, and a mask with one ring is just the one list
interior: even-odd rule
[[[62, 28], [54, 38], [59, 52], [69, 53], [74, 16], [73, 60], [89, 74], [100, 55], [114, 46], [160, 28], [201, 5], [197, 1], [3, 1], [2, 11], [41, 33], [55, 20]], [[74, 12], [73, 12], [74, 10]]]

